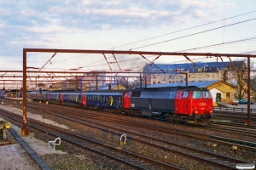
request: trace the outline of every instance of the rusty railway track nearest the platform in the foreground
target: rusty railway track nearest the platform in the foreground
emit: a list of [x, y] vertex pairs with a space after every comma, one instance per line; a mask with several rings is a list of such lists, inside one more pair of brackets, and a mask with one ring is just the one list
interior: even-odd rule
[[[6, 118], [9, 118], [15, 122], [22, 123], [20, 121], [22, 120], [22, 116], [17, 116], [9, 111], [4, 111], [2, 109], [0, 112], [1, 115], [5, 116]], [[119, 148], [115, 148], [113, 146], [103, 144], [92, 139], [87, 139], [83, 136], [67, 132], [67, 130], [63, 130], [59, 127], [53, 127], [34, 120], [30, 120], [30, 122], [31, 123], [28, 126], [37, 129], [38, 131], [48, 133], [55, 137], [61, 137], [62, 140], [65, 140], [71, 144], [75, 144], [83, 149], [96, 152], [97, 154], [103, 156], [108, 156], [113, 160], [120, 161], [137, 169], [183, 169], [166, 162], [156, 161], [146, 156], [140, 156], [127, 150], [120, 150]]]

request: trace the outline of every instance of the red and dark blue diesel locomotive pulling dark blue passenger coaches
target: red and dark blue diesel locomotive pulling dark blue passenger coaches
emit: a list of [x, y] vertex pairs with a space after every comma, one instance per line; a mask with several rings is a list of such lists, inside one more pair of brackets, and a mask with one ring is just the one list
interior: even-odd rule
[[184, 124], [208, 124], [214, 117], [207, 88], [132, 88], [84, 92], [31, 91], [28, 99]]

